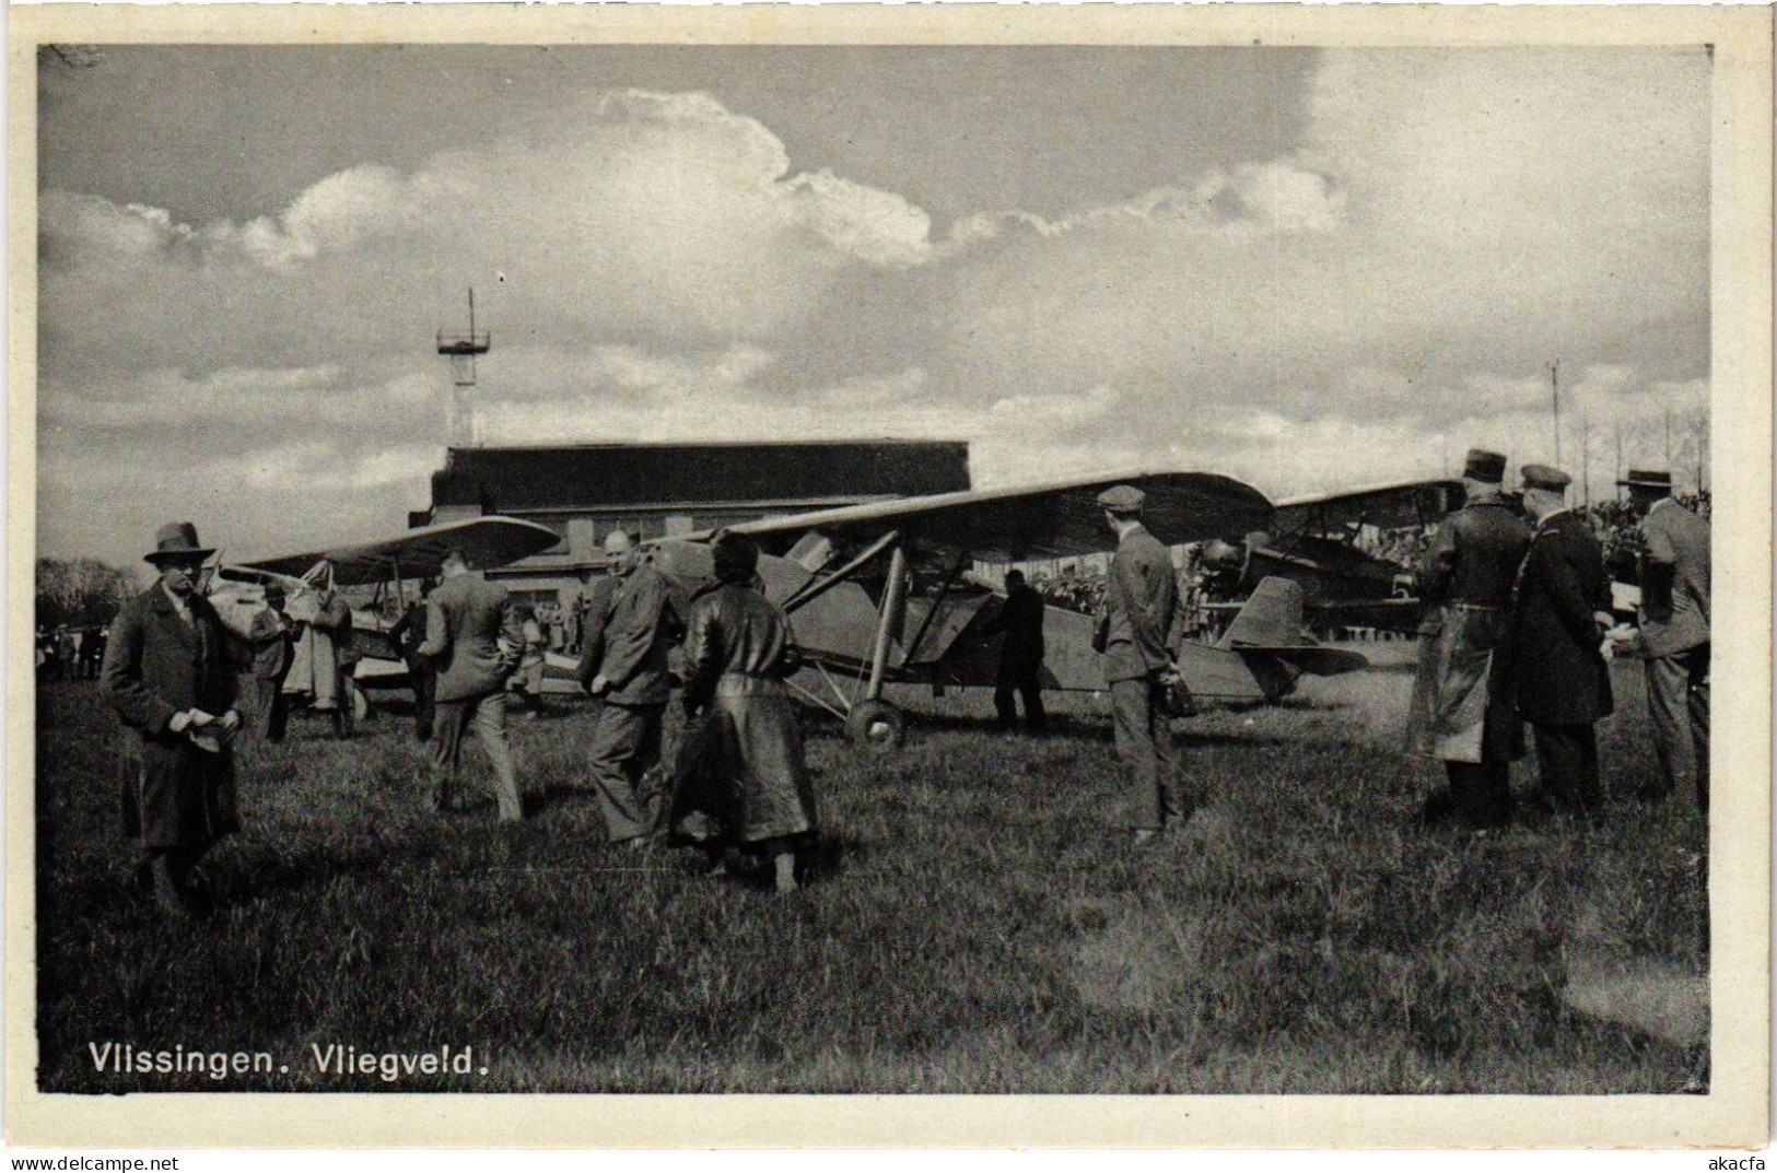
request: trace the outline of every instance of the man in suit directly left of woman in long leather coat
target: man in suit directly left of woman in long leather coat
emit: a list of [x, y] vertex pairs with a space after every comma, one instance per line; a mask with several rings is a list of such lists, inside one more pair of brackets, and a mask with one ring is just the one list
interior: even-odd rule
[[592, 780], [613, 844], [647, 848], [663, 794], [661, 718], [670, 681], [666, 649], [682, 631], [665, 576], [641, 562], [622, 530], [604, 539], [610, 585], [594, 586], [583, 633], [579, 682], [604, 700], [592, 730]]

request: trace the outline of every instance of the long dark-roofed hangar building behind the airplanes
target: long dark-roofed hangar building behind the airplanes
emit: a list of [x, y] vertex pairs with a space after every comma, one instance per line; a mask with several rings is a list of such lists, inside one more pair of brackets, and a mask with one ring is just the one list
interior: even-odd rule
[[720, 524], [968, 489], [965, 441], [574, 444], [450, 448], [423, 526], [503, 514], [560, 542], [492, 571], [528, 602], [567, 602], [602, 565], [611, 530], [643, 539]]

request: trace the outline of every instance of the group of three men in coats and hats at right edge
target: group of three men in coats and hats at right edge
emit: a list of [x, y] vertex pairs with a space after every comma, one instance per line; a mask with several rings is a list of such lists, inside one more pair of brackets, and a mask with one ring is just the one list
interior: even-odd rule
[[[1644, 661], [1660, 777], [1631, 794], [1663, 800], [1709, 782], [1709, 523], [1672, 499], [1669, 473], [1631, 471], [1640, 624], [1617, 627], [1605, 547], [1567, 507], [1571, 476], [1525, 466], [1523, 499], [1502, 492], [1505, 457], [1475, 450], [1466, 503], [1416, 569], [1425, 601], [1407, 748], [1443, 762], [1448, 791], [1430, 821], [1489, 830], [1514, 821], [1510, 762], [1532, 729], [1535, 807], [1596, 819], [1596, 725], [1614, 711], [1608, 654]], [[1530, 523], [1521, 515], [1528, 514]]]

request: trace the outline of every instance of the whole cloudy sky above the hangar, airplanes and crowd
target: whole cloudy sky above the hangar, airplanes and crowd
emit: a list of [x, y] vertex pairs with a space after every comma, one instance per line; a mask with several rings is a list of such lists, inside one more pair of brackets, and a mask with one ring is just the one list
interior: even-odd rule
[[471, 284], [489, 443], [1288, 496], [1550, 459], [1558, 357], [1603, 494], [1706, 419], [1701, 48], [142, 46], [39, 98], [43, 555], [400, 530]]

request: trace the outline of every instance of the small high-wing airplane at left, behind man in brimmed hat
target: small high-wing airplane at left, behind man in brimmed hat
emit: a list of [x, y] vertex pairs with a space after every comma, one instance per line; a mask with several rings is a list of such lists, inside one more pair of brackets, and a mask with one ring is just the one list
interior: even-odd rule
[[474, 517], [407, 530], [398, 537], [352, 542], [300, 555], [281, 555], [242, 563], [219, 563], [208, 595], [222, 622], [247, 636], [252, 617], [265, 610], [265, 588], [284, 588], [286, 606], [297, 617], [306, 599], [329, 585], [370, 586], [371, 597], [352, 608], [352, 645], [359, 654], [350, 704], [357, 716], [368, 711], [366, 688], [405, 688], [407, 663], [389, 638], [389, 627], [412, 595], [409, 583], [437, 578], [444, 551], [457, 547], [476, 569], [496, 569], [549, 549], [560, 537], [547, 526], [517, 517]]

